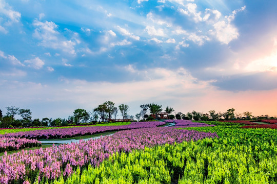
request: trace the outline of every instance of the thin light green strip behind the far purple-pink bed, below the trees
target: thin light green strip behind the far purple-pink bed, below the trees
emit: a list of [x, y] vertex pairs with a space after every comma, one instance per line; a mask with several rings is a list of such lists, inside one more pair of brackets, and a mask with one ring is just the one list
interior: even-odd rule
[[[88, 125], [88, 126], [120, 126], [120, 125], [129, 125], [129, 124], [131, 124], [131, 122], [106, 123], [106, 124], [97, 124], [97, 125]], [[56, 129], [56, 128], [76, 128], [76, 127], [84, 127], [84, 126], [2, 129], [0, 130], [0, 134], [34, 131], [34, 130], [48, 130], [48, 129]]]

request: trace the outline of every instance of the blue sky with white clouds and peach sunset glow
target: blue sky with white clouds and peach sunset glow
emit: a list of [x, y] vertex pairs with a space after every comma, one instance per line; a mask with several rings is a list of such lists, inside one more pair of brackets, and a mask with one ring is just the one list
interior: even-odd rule
[[0, 0], [0, 109], [277, 116], [276, 17], [275, 0]]

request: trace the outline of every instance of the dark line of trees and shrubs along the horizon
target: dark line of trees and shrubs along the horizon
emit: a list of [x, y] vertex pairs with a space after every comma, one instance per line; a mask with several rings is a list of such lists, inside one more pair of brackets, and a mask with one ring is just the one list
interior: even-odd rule
[[[216, 112], [210, 110], [209, 113], [197, 112], [195, 110], [187, 113], [175, 112], [172, 107], [167, 106], [163, 111], [162, 105], [159, 104], [143, 104], [140, 105], [141, 111], [136, 113], [135, 116], [129, 114], [130, 107], [126, 104], [121, 104], [118, 107], [111, 101], [106, 101], [98, 105], [91, 111], [82, 108], [75, 109], [72, 116], [67, 119], [57, 118], [43, 118], [42, 120], [33, 119], [30, 109], [19, 109], [18, 107], [6, 107], [7, 112], [3, 115], [0, 109], [0, 127], [33, 127], [33, 126], [68, 126], [68, 125], [82, 125], [82, 124], [95, 124], [99, 122], [116, 122], [116, 121], [150, 121], [166, 119], [183, 119], [195, 121], [218, 121], [218, 120], [260, 120], [260, 119], [276, 119], [276, 117], [258, 116], [254, 117], [252, 112], [246, 111], [243, 113], [235, 112], [234, 108], [228, 109], [226, 112]], [[150, 114], [148, 113], [148, 110]], [[117, 119], [118, 114], [122, 119]], [[166, 115], [164, 117], [164, 114]], [[19, 115], [21, 119], [15, 119]], [[162, 117], [163, 116], [163, 117]]]

